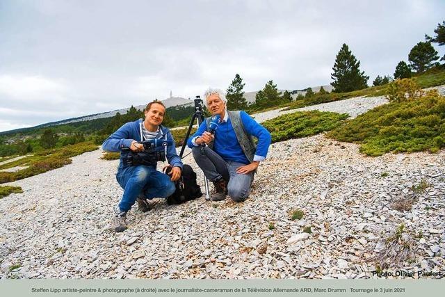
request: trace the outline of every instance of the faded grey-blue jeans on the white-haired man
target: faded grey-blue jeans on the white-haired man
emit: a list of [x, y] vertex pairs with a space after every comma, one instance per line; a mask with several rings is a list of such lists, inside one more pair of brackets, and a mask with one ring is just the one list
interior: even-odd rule
[[[202, 154], [201, 147], [193, 147], [192, 152], [197, 166], [201, 168], [202, 172], [204, 172], [204, 175], [207, 177], [207, 179], [209, 179], [209, 181], [215, 182], [222, 177], [220, 172], [216, 170], [216, 166], [209, 159], [209, 157]], [[216, 152], [214, 154], [216, 154]], [[227, 169], [229, 170], [230, 179], [227, 184], [227, 193], [229, 197], [236, 202], [243, 201], [245, 198], [248, 198], [250, 184], [252, 184], [254, 172], [252, 171], [248, 174], [236, 173], [236, 168], [245, 166], [246, 164], [234, 161], [224, 161], [224, 159], [218, 154], [216, 154], [216, 156], [218, 156], [218, 158], [215, 158], [217, 159], [216, 161], [226, 163]]]

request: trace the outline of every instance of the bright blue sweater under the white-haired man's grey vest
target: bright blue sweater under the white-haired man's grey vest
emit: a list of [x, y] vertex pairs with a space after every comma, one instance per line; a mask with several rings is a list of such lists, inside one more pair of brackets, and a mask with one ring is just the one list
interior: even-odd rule
[[[227, 115], [227, 111], [226, 111]], [[258, 138], [257, 151], [254, 155], [254, 161], [264, 161], [271, 142], [269, 131], [263, 126], [259, 125], [254, 119], [245, 111], [240, 112], [241, 121], [243, 122], [246, 133]], [[248, 164], [250, 161], [245, 156], [241, 145], [238, 143], [232, 122], [227, 116], [226, 121], [220, 122], [218, 129], [215, 132], [215, 141], [213, 143], [213, 150], [218, 153], [225, 161], [235, 161], [243, 164]], [[193, 147], [194, 138], [200, 137], [204, 131], [207, 131], [206, 122], [202, 122], [193, 136], [188, 138], [188, 147]]]

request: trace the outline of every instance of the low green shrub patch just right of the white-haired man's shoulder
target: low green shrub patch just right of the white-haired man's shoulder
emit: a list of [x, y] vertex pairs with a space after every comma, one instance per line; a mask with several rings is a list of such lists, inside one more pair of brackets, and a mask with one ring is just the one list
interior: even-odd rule
[[322, 111], [298, 111], [266, 120], [262, 125], [272, 135], [272, 142], [302, 138], [330, 131], [341, 125], [348, 114]]

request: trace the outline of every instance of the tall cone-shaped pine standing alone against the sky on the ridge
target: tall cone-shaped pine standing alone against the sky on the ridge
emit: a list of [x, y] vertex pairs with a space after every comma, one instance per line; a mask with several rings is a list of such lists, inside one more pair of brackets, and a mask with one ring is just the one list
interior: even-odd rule
[[334, 87], [334, 92], [350, 92], [367, 88], [366, 82], [369, 77], [364, 75], [364, 72], [360, 72], [359, 67], [360, 61], [357, 61], [348, 45], [343, 43], [332, 67], [334, 73], [331, 74], [331, 78], [334, 81], [331, 85]]

